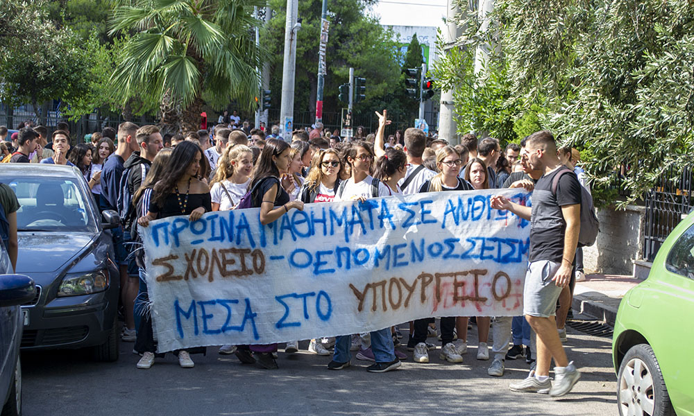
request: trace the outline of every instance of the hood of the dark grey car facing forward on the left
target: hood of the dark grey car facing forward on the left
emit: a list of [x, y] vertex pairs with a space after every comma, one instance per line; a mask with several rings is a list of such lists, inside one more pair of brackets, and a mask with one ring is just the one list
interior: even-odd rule
[[93, 232], [18, 232], [17, 273], [55, 272], [95, 237]]

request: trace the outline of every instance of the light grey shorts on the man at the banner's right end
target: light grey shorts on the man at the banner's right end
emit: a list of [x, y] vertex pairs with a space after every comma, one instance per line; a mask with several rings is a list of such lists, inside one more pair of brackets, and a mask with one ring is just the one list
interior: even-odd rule
[[548, 260], [528, 263], [523, 287], [523, 315], [541, 318], [555, 315], [561, 287], [552, 281], [552, 277], [559, 266], [561, 263]]

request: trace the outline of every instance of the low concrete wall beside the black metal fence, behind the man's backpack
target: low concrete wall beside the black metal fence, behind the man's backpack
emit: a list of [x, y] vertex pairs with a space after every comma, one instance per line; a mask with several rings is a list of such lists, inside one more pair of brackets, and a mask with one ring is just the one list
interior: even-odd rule
[[632, 275], [634, 260], [643, 253], [645, 207], [598, 210], [600, 233], [591, 247], [583, 248], [586, 273]]

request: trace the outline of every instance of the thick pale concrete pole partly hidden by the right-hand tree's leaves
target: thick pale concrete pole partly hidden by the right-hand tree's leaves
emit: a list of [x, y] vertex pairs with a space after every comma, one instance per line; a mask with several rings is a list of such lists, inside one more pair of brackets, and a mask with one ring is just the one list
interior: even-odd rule
[[[469, 1], [468, 1], [469, 3]], [[454, 6], [455, 5], [455, 6]], [[459, 4], [454, 0], [448, 0], [446, 6], [446, 28], [443, 30], [443, 53], [456, 48], [455, 42], [462, 35], [462, 28], [459, 28], [455, 16], [461, 11]], [[465, 12], [470, 10], [469, 6]], [[439, 111], [439, 139], [448, 141], [450, 144], [460, 144], [457, 135], [457, 123], [455, 122], [455, 106], [453, 105], [453, 89], [441, 90], [441, 110]]]

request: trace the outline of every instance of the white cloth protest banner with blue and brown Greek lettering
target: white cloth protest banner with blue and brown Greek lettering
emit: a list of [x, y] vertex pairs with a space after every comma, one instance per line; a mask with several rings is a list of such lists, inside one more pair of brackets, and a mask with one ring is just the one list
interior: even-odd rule
[[307, 204], [140, 227], [160, 352], [372, 331], [431, 316], [521, 315], [530, 224], [517, 189]]

